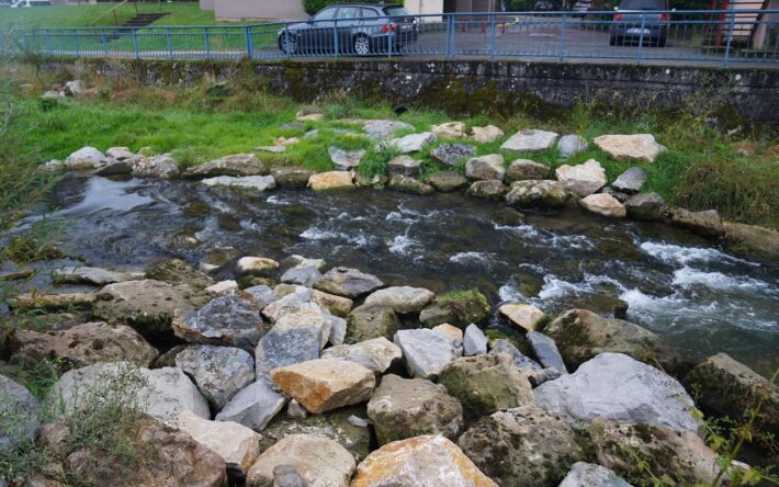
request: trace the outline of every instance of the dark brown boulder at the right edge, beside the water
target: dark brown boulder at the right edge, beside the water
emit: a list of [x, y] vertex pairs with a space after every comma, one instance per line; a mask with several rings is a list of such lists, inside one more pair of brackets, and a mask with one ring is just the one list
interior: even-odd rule
[[779, 387], [726, 353], [709, 356], [687, 374], [685, 383], [707, 408], [733, 420], [747, 421], [761, 404], [756, 422], [765, 431], [779, 431]]

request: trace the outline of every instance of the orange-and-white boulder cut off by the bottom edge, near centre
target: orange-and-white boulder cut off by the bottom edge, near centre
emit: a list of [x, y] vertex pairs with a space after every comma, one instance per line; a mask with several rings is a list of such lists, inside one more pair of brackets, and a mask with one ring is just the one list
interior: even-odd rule
[[351, 487], [497, 487], [443, 435], [387, 443], [363, 460]]

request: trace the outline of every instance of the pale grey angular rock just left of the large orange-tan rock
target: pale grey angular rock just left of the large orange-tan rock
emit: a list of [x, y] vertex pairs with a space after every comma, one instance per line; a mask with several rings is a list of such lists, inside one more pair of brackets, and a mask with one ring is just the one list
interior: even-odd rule
[[273, 390], [268, 380], [260, 378], [238, 390], [216, 415], [217, 421], [235, 421], [262, 431], [284, 408], [284, 397]]

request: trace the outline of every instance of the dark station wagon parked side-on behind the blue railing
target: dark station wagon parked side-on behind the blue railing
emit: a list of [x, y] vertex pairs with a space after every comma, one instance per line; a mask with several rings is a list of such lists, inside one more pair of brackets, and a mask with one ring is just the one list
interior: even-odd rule
[[338, 3], [307, 22], [279, 31], [279, 48], [286, 54], [338, 53], [358, 56], [399, 52], [419, 36], [417, 21], [397, 4]]

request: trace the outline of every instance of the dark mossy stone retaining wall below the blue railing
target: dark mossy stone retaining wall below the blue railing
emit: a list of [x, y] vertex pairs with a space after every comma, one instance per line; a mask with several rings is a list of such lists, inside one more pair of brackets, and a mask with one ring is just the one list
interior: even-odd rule
[[[56, 60], [54, 64], [76, 63]], [[247, 70], [302, 101], [332, 90], [424, 103], [451, 113], [516, 113], [549, 117], [577, 103], [635, 112], [707, 106], [727, 126], [779, 126], [779, 70], [518, 60], [330, 59], [274, 61], [79, 60], [100, 72], [148, 84], [229, 79]]]

